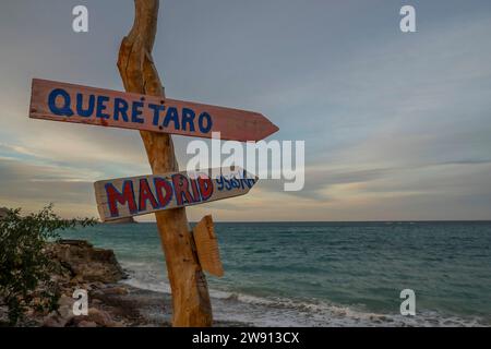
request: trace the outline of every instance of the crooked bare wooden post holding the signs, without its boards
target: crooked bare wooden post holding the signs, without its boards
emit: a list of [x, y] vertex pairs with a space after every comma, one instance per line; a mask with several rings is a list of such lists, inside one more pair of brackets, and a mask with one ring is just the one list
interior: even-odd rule
[[[157, 31], [158, 0], [134, 0], [135, 19], [121, 43], [118, 68], [127, 92], [161, 96], [164, 87], [152, 59]], [[172, 139], [168, 134], [140, 132], [153, 173], [178, 171]], [[185, 208], [155, 214], [172, 290], [172, 325], [212, 325], [206, 278], [193, 252]]]

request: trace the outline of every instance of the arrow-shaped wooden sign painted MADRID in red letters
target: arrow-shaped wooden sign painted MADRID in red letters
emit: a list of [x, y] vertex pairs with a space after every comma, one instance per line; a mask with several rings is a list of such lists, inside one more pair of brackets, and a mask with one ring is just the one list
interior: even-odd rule
[[258, 182], [243, 169], [227, 168], [120, 178], [95, 182], [103, 221], [244, 195]]

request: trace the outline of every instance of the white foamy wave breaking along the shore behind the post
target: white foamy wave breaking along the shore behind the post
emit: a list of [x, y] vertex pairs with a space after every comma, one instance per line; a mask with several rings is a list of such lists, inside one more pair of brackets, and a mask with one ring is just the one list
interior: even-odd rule
[[[125, 263], [130, 278], [123, 282], [140, 289], [170, 293], [170, 286], [159, 280], [155, 269], [145, 263]], [[137, 272], [135, 272], [135, 268]], [[300, 327], [469, 327], [489, 326], [480, 317], [445, 316], [436, 312], [418, 312], [416, 316], [380, 314], [361, 306], [346, 306], [322, 301], [299, 301], [286, 298], [263, 298], [253, 294], [211, 289], [214, 317], [251, 326]]]

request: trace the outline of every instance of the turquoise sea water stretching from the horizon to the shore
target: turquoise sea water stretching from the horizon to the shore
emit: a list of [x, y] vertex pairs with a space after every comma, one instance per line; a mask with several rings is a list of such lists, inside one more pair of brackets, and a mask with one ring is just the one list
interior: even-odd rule
[[[216, 224], [216, 317], [258, 325], [490, 325], [491, 222]], [[155, 224], [64, 234], [113, 249], [129, 284], [168, 292]], [[399, 293], [416, 292], [416, 316]], [[233, 317], [233, 318], [230, 318]]]

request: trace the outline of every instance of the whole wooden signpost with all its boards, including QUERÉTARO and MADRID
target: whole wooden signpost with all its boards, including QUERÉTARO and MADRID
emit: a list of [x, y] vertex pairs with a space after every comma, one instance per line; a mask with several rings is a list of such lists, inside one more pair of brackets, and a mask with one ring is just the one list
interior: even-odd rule
[[[103, 220], [154, 213], [172, 291], [173, 326], [211, 326], [203, 270], [223, 275], [209, 216], [191, 231], [185, 206], [246, 194], [258, 181], [242, 169], [218, 176], [179, 172], [170, 134], [259, 141], [278, 128], [264, 116], [167, 99], [152, 59], [158, 0], [134, 0], [133, 27], [121, 43], [118, 68], [127, 93], [33, 80], [29, 117], [139, 130], [153, 176], [95, 183]], [[246, 174], [244, 174], [246, 173]]]

